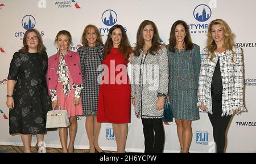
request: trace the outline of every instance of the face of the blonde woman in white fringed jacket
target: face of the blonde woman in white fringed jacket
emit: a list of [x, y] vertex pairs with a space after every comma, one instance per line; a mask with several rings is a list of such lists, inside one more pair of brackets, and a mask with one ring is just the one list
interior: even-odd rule
[[212, 25], [211, 34], [216, 43], [224, 43], [224, 28], [220, 24]]

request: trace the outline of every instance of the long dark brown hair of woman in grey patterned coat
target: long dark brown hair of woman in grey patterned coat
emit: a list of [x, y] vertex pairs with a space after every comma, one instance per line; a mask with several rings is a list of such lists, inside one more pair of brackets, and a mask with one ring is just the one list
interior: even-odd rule
[[134, 48], [134, 56], [138, 57], [141, 53], [140, 50], [143, 48], [144, 45], [144, 38], [143, 38], [143, 29], [144, 27], [146, 27], [146, 25], [151, 25], [153, 30], [154, 30], [154, 34], [153, 34], [153, 38], [152, 38], [152, 46], [150, 49], [148, 49], [148, 53], [154, 55], [156, 54], [156, 51], [158, 51], [160, 49], [160, 38], [159, 38], [159, 34], [158, 34], [158, 28], [156, 27], [155, 23], [153, 21], [150, 20], [144, 20], [142, 21], [141, 25], [139, 25], [138, 31], [137, 31], [137, 42], [136, 42], [136, 46]]

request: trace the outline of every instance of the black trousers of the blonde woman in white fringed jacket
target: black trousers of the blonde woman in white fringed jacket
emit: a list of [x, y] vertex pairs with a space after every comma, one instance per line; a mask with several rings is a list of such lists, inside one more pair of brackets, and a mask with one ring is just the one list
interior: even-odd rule
[[216, 143], [216, 152], [224, 153], [226, 144], [226, 128], [228, 127], [232, 115], [221, 116], [222, 107], [221, 102], [212, 98], [212, 114], [208, 113], [210, 123], [213, 127], [213, 138]]

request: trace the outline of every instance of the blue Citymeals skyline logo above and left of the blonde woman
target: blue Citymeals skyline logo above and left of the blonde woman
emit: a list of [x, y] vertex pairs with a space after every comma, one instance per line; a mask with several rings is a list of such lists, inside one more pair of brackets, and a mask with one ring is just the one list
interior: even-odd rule
[[205, 21], [209, 20], [210, 16], [212, 16], [210, 7], [205, 4], [197, 5], [193, 10], [193, 16], [200, 23], [188, 24], [190, 33], [207, 33], [209, 24], [205, 23]]

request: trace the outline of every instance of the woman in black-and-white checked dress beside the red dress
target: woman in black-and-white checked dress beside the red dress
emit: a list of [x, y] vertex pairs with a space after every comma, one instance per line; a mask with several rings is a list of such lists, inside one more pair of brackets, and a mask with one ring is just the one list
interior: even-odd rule
[[98, 67], [102, 63], [104, 45], [100, 31], [95, 25], [86, 25], [82, 33], [82, 45], [77, 52], [80, 54], [82, 83], [84, 89], [81, 92], [83, 116], [86, 116], [85, 129], [89, 140], [89, 152], [103, 152], [98, 146], [98, 135], [101, 123], [97, 122], [98, 93]]

